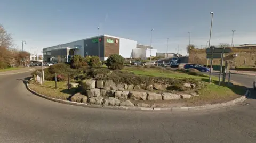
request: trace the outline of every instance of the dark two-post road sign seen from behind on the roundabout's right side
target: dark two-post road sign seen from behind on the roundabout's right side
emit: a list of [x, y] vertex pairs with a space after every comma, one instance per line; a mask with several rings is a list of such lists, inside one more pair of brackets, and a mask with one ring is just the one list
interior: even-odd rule
[[219, 75], [219, 85], [220, 85], [220, 79], [221, 79], [221, 72], [222, 72], [222, 65], [223, 65], [223, 58], [225, 53], [230, 53], [231, 48], [216, 48], [214, 46], [206, 49], [206, 58], [211, 58], [211, 69], [210, 69], [210, 77], [209, 77], [209, 83], [211, 83], [212, 78], [212, 61], [214, 58], [221, 58], [221, 66], [220, 66], [220, 75]]

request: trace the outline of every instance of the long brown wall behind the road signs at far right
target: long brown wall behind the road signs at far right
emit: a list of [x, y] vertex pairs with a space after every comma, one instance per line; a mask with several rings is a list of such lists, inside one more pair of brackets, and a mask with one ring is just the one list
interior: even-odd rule
[[[255, 66], [256, 63], [256, 47], [249, 48], [232, 48], [231, 53], [225, 54], [225, 56], [231, 54], [238, 54], [233, 60], [233, 66]], [[210, 64], [210, 59], [209, 63]], [[232, 60], [229, 60], [231, 63]], [[245, 61], [245, 64], [244, 64]], [[189, 51], [189, 63], [205, 64], [207, 63], [205, 49], [195, 49]], [[220, 59], [214, 59], [213, 65], [220, 65]]]

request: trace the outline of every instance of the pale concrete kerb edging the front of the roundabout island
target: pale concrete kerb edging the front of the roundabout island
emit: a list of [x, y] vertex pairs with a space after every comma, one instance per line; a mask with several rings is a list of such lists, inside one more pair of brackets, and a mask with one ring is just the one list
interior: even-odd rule
[[244, 102], [246, 100], [246, 96], [249, 94], [249, 90], [246, 90], [244, 96], [231, 100], [229, 102], [217, 103], [217, 104], [206, 104], [202, 106], [191, 106], [191, 107], [170, 107], [170, 108], [146, 108], [146, 107], [124, 107], [124, 106], [106, 106], [106, 105], [94, 105], [94, 104], [87, 104], [87, 103], [77, 103], [77, 102], [70, 102], [67, 100], [61, 100], [56, 98], [51, 98], [42, 94], [35, 92], [34, 90], [29, 88], [28, 83], [26, 83], [26, 88], [33, 94], [54, 101], [58, 103], [68, 104], [68, 105], [75, 105], [75, 106], [83, 106], [83, 107], [92, 107], [92, 108], [107, 108], [107, 109], [118, 109], [118, 110], [143, 110], [143, 111], [193, 111], [193, 110], [209, 110], [214, 108], [221, 108], [227, 106], [233, 106], [237, 103]]

